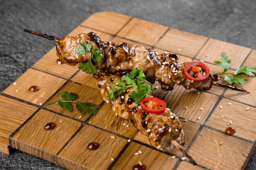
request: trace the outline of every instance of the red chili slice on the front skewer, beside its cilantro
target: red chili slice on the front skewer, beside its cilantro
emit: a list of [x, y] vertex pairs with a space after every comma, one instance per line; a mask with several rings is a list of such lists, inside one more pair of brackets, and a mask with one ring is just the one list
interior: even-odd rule
[[[145, 103], [147, 102], [154, 102], [154, 105], [157, 103], [158, 106], [160, 106], [160, 108], [148, 108], [147, 106], [145, 106]], [[139, 101], [139, 106], [141, 106], [142, 110], [144, 110], [147, 113], [161, 114], [164, 113], [166, 109], [166, 102], [164, 102], [161, 99], [158, 99], [157, 97], [147, 97]]]

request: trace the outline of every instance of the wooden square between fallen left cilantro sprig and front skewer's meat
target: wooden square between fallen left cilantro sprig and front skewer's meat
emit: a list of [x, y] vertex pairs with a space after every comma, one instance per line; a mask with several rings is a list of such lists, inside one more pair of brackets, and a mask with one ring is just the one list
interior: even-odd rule
[[88, 123], [129, 138], [137, 132], [132, 123], [116, 116], [115, 112], [112, 111], [112, 106], [108, 104], [104, 104], [97, 115], [94, 115]]

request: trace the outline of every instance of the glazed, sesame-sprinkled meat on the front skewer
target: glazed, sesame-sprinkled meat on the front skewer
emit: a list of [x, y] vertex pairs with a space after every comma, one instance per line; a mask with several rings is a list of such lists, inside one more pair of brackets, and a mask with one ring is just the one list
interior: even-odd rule
[[[96, 82], [106, 103], [112, 105], [112, 110], [120, 117], [133, 122], [139, 131], [148, 137], [148, 142], [155, 148], [163, 151], [172, 150], [174, 139], [180, 145], [184, 144], [184, 133], [178, 117], [166, 108], [162, 114], [146, 113], [141, 106], [129, 98], [129, 94], [134, 91], [133, 87], [124, 91], [117, 99], [108, 100], [108, 91], [112, 89], [112, 84], [116, 84], [116, 77], [124, 74], [117, 72], [115, 75], [100, 75]], [[153, 97], [151, 94], [146, 97]]]

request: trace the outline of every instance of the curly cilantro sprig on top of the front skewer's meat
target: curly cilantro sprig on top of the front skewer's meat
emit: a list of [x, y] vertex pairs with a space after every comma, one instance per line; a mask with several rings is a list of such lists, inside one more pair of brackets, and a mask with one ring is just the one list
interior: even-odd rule
[[[152, 84], [146, 80], [146, 76], [140, 68], [133, 68], [130, 73], [127, 73], [121, 79], [117, 77], [116, 81], [117, 84], [112, 84], [111, 90], [108, 92], [107, 99], [109, 100], [117, 98], [130, 87], [133, 87], [134, 91], [129, 94], [129, 97], [137, 104], [148, 93], [152, 93]], [[115, 86], [119, 88], [115, 88]]]

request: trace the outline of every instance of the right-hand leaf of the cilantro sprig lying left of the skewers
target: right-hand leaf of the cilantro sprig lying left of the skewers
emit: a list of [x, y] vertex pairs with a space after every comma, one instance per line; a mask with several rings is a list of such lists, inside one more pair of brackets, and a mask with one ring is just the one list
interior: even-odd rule
[[88, 114], [88, 115], [95, 115], [97, 113], [97, 106], [93, 103], [90, 102], [85, 102], [85, 103], [79, 103], [76, 102], [76, 109], [81, 113], [81, 114]]

